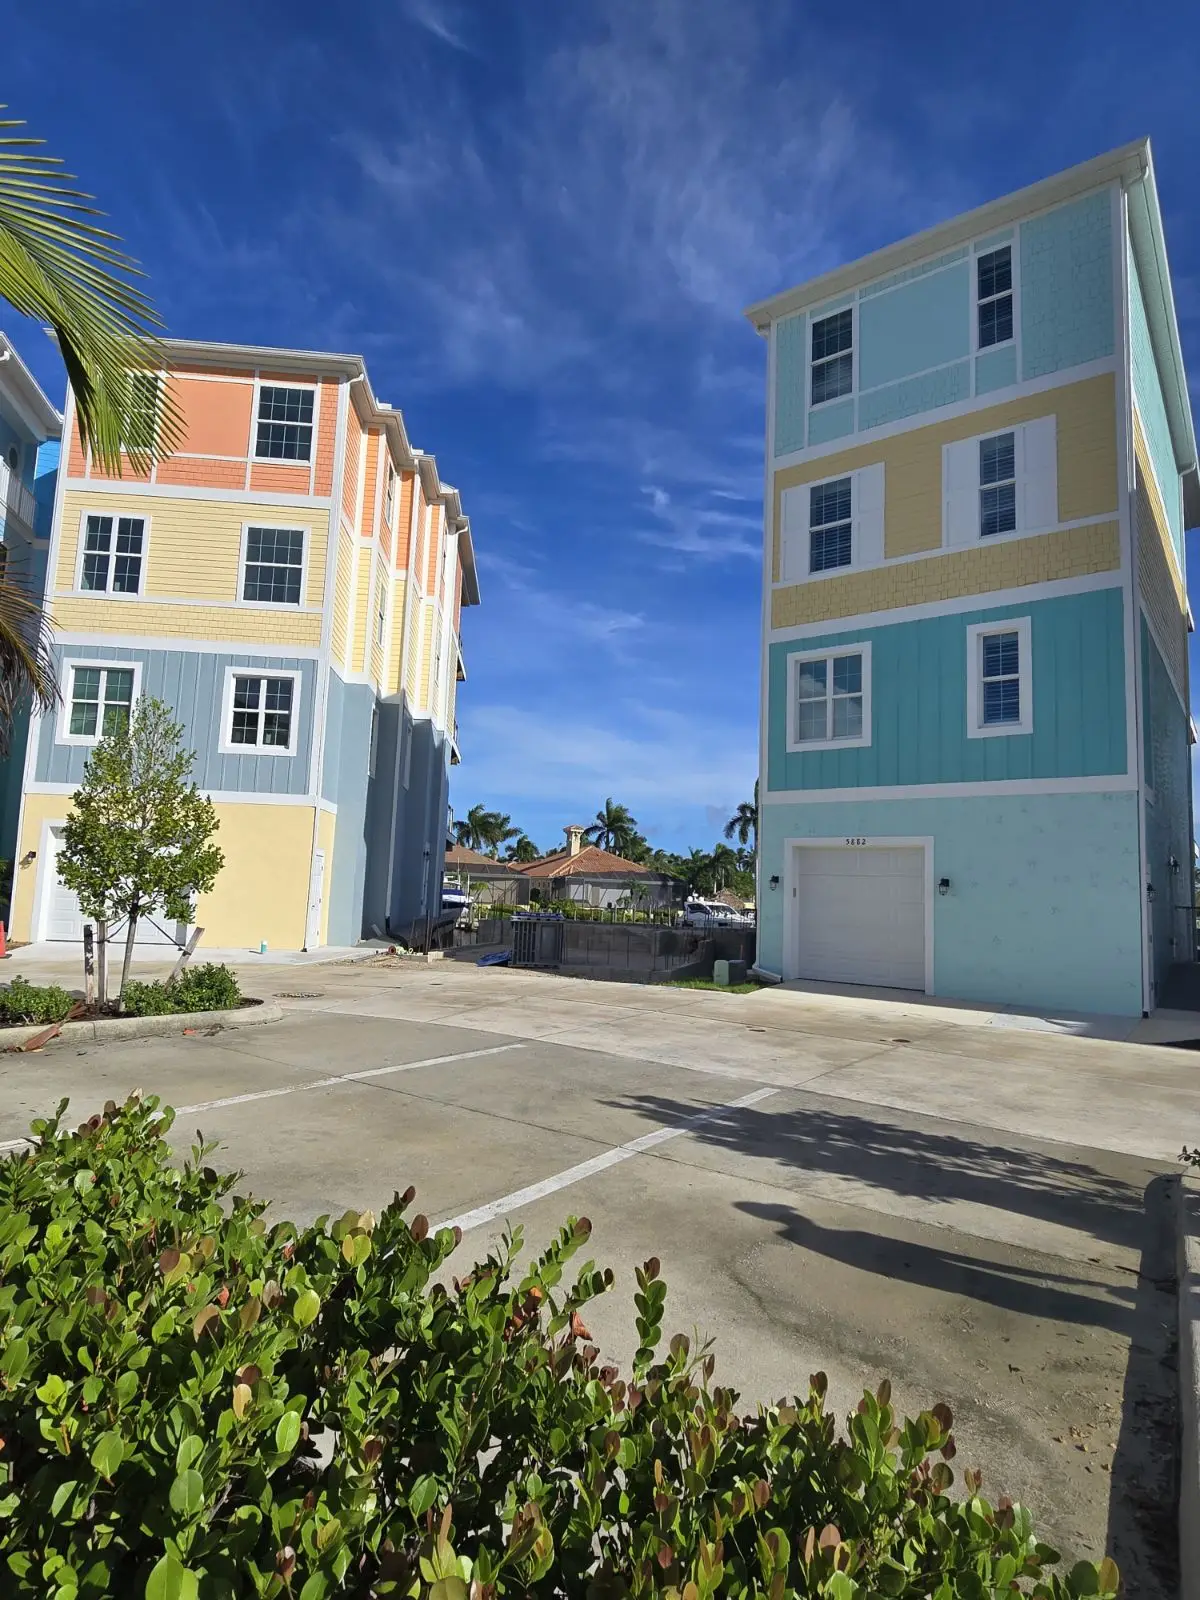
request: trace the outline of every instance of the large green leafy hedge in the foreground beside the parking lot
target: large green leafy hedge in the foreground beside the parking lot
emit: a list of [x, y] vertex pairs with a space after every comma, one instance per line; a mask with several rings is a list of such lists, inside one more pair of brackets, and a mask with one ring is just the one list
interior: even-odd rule
[[888, 1386], [838, 1435], [826, 1379], [742, 1416], [707, 1349], [662, 1349], [658, 1261], [637, 1272], [622, 1379], [582, 1322], [611, 1283], [520, 1234], [450, 1286], [448, 1229], [406, 1218], [267, 1226], [171, 1112], [64, 1106], [0, 1166], [0, 1592], [258, 1595], [877, 1595], [1067, 1600], [1029, 1512], [952, 1499], [952, 1419], [899, 1424]]

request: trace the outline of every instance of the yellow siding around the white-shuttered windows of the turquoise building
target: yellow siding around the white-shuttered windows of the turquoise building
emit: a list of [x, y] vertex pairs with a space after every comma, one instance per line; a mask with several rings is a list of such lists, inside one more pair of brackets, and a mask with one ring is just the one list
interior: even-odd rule
[[[1022, 395], [1006, 405], [931, 421], [891, 438], [805, 461], [774, 475], [773, 578], [779, 579], [781, 496], [802, 483], [819, 483], [883, 462], [883, 552], [918, 555], [942, 542], [942, 445], [1018, 422], [1056, 416], [1059, 522], [1117, 515], [1117, 398], [1110, 373], [1062, 389]], [[824, 581], [822, 581], [824, 587]]]

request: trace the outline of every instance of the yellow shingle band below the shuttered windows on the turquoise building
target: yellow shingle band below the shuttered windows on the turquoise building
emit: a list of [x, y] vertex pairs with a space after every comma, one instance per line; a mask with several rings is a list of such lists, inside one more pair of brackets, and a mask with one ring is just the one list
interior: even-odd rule
[[866, 616], [894, 606], [930, 605], [960, 595], [992, 594], [1024, 584], [1083, 578], [1120, 568], [1120, 534], [1115, 522], [1086, 528], [1062, 528], [1029, 539], [1005, 539], [971, 550], [949, 550], [923, 562], [870, 566], [843, 578], [776, 589], [771, 595], [771, 627], [800, 627], [840, 616]]

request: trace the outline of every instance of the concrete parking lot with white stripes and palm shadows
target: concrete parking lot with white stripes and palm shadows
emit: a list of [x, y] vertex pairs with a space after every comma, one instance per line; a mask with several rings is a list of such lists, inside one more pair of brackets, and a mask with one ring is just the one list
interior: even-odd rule
[[282, 1024], [8, 1058], [0, 1141], [141, 1086], [298, 1221], [413, 1182], [466, 1264], [507, 1221], [538, 1243], [586, 1213], [618, 1269], [589, 1317], [606, 1354], [658, 1254], [667, 1322], [715, 1336], [747, 1403], [818, 1368], [838, 1410], [885, 1374], [909, 1410], [946, 1400], [986, 1493], [1072, 1558], [1107, 1549], [1130, 1595], [1171, 1592], [1166, 1187], [1195, 1054], [453, 963], [253, 982]]

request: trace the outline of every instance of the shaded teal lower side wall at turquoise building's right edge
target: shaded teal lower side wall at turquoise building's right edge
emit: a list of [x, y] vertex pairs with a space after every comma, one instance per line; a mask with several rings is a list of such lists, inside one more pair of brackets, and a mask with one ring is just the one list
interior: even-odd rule
[[[1174, 962], [1192, 958], [1192, 774], [1187, 712], [1171, 686], [1163, 658], [1142, 618], [1142, 734], [1146, 784], [1146, 866], [1150, 904], [1152, 971], [1162, 989]], [[1174, 862], [1174, 866], [1173, 866]]]

